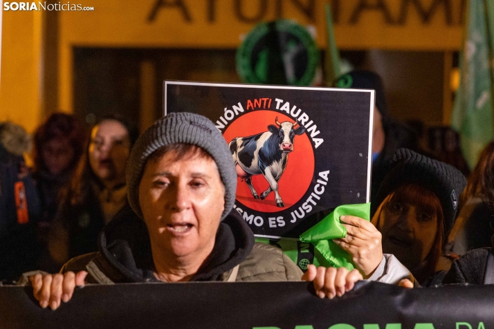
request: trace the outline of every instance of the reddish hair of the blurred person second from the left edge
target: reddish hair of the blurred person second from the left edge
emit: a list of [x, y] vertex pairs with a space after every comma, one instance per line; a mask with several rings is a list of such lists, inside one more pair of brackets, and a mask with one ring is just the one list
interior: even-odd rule
[[42, 156], [44, 145], [51, 140], [65, 138], [71, 144], [74, 151], [74, 156], [66, 170], [75, 169], [82, 153], [84, 153], [86, 135], [87, 133], [82, 123], [74, 115], [66, 113], [53, 113], [50, 115], [44, 124], [39, 126], [35, 132], [33, 148], [35, 171], [47, 169]]

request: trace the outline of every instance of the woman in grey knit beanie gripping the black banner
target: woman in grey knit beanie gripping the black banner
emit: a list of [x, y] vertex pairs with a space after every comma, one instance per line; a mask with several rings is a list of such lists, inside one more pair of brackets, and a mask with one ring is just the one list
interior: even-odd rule
[[[99, 252], [68, 261], [61, 274], [24, 274], [42, 307], [56, 309], [86, 283], [312, 281], [318, 297], [341, 296], [358, 270], [302, 271], [281, 250], [255, 243], [232, 211], [235, 165], [207, 118], [170, 113], [138, 138], [127, 165], [129, 205], [99, 238]], [[21, 281], [23, 281], [21, 279]]]

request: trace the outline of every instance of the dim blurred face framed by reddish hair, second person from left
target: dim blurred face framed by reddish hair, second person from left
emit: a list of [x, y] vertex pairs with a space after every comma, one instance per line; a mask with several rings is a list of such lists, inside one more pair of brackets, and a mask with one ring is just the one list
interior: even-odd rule
[[42, 145], [43, 162], [52, 175], [58, 175], [70, 166], [74, 148], [68, 138], [54, 138]]

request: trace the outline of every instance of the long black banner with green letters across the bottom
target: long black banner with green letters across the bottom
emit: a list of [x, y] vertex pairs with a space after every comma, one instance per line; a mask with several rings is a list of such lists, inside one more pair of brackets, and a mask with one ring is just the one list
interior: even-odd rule
[[405, 289], [360, 281], [336, 299], [304, 282], [87, 285], [56, 311], [0, 288], [1, 328], [490, 329], [494, 285]]

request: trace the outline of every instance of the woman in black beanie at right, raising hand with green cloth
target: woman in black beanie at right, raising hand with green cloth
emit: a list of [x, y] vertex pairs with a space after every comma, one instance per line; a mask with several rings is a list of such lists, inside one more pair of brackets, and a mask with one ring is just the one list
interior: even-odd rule
[[[403, 276], [401, 285], [408, 288], [416, 282], [441, 283], [450, 265], [441, 255], [445, 236], [455, 223], [465, 185], [455, 167], [399, 149], [372, 203], [371, 223], [341, 216], [347, 236], [333, 241], [349, 252], [365, 279], [396, 283]], [[390, 276], [390, 271], [396, 275]], [[394, 281], [380, 279], [383, 274]]]

